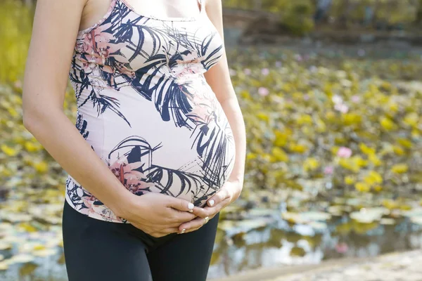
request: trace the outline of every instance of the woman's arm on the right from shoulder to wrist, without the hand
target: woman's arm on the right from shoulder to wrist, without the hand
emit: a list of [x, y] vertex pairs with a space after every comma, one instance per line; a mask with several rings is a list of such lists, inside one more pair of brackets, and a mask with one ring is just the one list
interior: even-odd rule
[[[224, 42], [222, 0], [205, 0], [205, 3], [205, 11], [207, 11], [208, 17], [217, 28]], [[225, 51], [219, 62], [205, 72], [204, 75], [207, 79], [207, 83], [210, 84], [212, 91], [215, 92], [215, 96], [217, 96], [219, 103], [221, 103], [234, 133], [236, 162], [234, 169], [230, 174], [229, 181], [236, 181], [240, 183], [240, 185], [243, 185], [246, 155], [245, 123], [243, 122], [241, 107], [238, 103], [233, 84], [231, 84], [229, 65], [227, 63]], [[234, 194], [234, 200], [240, 195], [241, 190], [236, 190], [236, 192], [239, 193]]]

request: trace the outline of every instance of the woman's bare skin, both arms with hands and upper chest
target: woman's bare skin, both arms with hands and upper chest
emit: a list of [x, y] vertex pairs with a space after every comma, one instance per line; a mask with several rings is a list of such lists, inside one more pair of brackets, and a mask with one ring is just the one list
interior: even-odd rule
[[[189, 0], [193, 4], [192, 10], [179, 9], [177, 14], [174, 14], [174, 10], [172, 13], [166, 11], [163, 8], [164, 1], [162, 5], [153, 8], [146, 0], [126, 1], [139, 9], [142, 4], [143, 7], [150, 6], [150, 11], [145, 13], [151, 15], [189, 17], [198, 13], [197, 6], [194, 5], [196, 0]], [[174, 6], [177, 3], [179, 7], [186, 7], [186, 1], [188, 0], [182, 3], [182, 0], [175, 0], [172, 3]], [[206, 11], [222, 34], [221, 0], [207, 1]], [[135, 4], [136, 2], [138, 4]], [[193, 231], [203, 225], [203, 218], [215, 216], [227, 203], [236, 200], [243, 185], [243, 117], [231, 86], [226, 58], [224, 56], [222, 63], [212, 67], [206, 78], [215, 90], [234, 130], [236, 164], [229, 181], [212, 198], [215, 200], [214, 207], [193, 207], [193, 204], [186, 200], [159, 193], [134, 195], [124, 188], [63, 112], [68, 71], [77, 32], [97, 22], [106, 13], [109, 5], [110, 0], [37, 1], [23, 85], [25, 128], [70, 176], [117, 216], [126, 218], [136, 228], [154, 237], [181, 233], [183, 228]]]

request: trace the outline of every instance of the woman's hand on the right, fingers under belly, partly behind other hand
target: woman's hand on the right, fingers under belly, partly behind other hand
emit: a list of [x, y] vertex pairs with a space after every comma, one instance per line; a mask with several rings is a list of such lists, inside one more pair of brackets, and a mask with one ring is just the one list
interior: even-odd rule
[[207, 200], [205, 207], [194, 208], [193, 214], [196, 214], [198, 217], [192, 221], [182, 223], [179, 226], [179, 234], [198, 230], [198, 228], [205, 224], [206, 217], [209, 220], [214, 218], [219, 211], [234, 202], [241, 195], [242, 188], [243, 184], [239, 181], [226, 181], [222, 188]]

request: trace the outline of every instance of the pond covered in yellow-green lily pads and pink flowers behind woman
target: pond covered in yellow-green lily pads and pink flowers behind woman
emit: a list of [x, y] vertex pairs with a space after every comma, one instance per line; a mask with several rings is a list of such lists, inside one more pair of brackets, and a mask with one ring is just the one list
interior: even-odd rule
[[[5, 11], [0, 280], [67, 280], [63, 169], [22, 125], [30, 20]], [[242, 197], [222, 212], [210, 278], [421, 247], [421, 49], [300, 42], [227, 49], [248, 161]], [[64, 110], [75, 122], [70, 90]]]

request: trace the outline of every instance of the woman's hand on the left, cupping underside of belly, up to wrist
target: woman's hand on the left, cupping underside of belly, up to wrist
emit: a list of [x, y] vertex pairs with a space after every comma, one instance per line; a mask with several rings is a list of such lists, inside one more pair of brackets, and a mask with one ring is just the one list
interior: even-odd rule
[[198, 207], [194, 207], [187, 200], [148, 192], [133, 195], [129, 202], [125, 202], [122, 217], [143, 232], [153, 237], [162, 237], [170, 233], [179, 233], [181, 223], [196, 218], [192, 213], [194, 208]]

